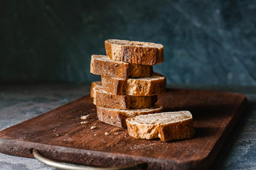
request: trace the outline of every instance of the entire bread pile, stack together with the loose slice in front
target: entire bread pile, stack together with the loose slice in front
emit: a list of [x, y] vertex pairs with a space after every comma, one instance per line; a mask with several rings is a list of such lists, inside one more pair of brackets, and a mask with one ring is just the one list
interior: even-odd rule
[[156, 105], [166, 79], [153, 72], [164, 62], [164, 47], [151, 42], [105, 40], [107, 55], [92, 55], [90, 72], [101, 75], [92, 82], [91, 97], [100, 121], [127, 128], [135, 138], [163, 141], [193, 137], [189, 111], [162, 113]]

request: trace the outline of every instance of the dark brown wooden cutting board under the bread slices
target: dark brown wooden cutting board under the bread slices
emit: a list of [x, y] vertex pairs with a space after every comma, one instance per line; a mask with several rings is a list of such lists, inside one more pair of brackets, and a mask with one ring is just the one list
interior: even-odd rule
[[[36, 148], [44, 157], [75, 164], [144, 162], [147, 169], [207, 169], [238, 121], [246, 98], [228, 92], [166, 89], [158, 103], [164, 111], [191, 111], [195, 137], [171, 142], [136, 140], [126, 129], [117, 132], [97, 120], [92, 98], [85, 96], [2, 130], [0, 152], [33, 157], [31, 149]], [[81, 115], [89, 118], [81, 120]]]

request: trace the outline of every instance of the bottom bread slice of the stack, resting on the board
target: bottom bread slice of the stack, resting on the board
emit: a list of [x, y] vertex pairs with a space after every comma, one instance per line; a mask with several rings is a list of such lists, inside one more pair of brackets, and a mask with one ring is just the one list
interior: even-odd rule
[[127, 118], [133, 118], [137, 115], [146, 115], [149, 113], [159, 113], [162, 111], [162, 107], [155, 105], [151, 108], [137, 108], [132, 110], [121, 110], [116, 108], [102, 108], [97, 106], [97, 117], [100, 121], [117, 126], [119, 128], [126, 128], [125, 120]]

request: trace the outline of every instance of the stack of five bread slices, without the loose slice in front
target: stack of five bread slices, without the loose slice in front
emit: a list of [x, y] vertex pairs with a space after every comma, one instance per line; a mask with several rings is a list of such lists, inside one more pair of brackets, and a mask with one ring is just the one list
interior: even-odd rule
[[164, 61], [164, 47], [151, 42], [105, 40], [107, 55], [92, 55], [90, 72], [102, 81], [91, 86], [91, 97], [100, 121], [126, 128], [125, 120], [137, 115], [160, 113], [155, 105], [166, 79], [153, 72]]

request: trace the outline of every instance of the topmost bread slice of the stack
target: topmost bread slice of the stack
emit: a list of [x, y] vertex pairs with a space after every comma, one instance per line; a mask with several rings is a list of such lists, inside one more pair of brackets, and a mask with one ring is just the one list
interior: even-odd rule
[[111, 60], [146, 65], [164, 62], [164, 46], [152, 42], [105, 40], [105, 49]]

